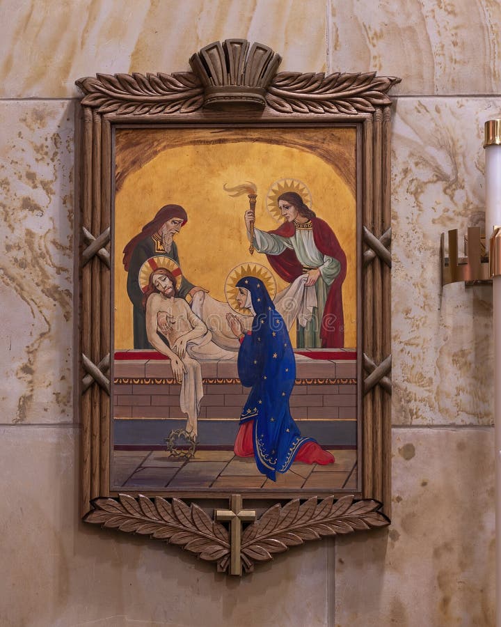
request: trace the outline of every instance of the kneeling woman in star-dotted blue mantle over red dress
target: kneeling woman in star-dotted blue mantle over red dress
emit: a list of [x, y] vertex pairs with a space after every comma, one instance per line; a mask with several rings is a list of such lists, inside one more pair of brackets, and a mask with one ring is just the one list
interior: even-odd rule
[[242, 385], [252, 387], [241, 412], [234, 453], [254, 456], [257, 468], [272, 481], [294, 461], [331, 464], [333, 456], [313, 438], [303, 438], [292, 419], [289, 397], [296, 379], [296, 360], [287, 327], [276, 311], [263, 281], [243, 277], [237, 283], [237, 302], [253, 314], [246, 332], [239, 318], [228, 324], [240, 339], [238, 371]]

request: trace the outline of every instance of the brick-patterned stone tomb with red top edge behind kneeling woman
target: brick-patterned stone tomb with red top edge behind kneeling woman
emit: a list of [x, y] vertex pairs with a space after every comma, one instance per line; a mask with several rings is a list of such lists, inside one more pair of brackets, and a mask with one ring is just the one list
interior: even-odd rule
[[[249, 390], [238, 378], [236, 359], [201, 365], [199, 446], [232, 447]], [[296, 351], [290, 408], [301, 433], [324, 446], [356, 447], [356, 382], [353, 350]], [[117, 352], [113, 364], [116, 449], [163, 446], [172, 429], [184, 428], [186, 415], [179, 394], [167, 358], [154, 350]]]

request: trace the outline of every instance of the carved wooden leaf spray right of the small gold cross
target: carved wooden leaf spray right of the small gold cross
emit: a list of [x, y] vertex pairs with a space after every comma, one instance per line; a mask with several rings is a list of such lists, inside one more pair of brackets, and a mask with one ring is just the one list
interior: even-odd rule
[[252, 562], [273, 559], [289, 546], [324, 536], [349, 534], [370, 527], [384, 527], [390, 522], [379, 511], [381, 503], [374, 500], [353, 502], [347, 495], [334, 501], [328, 497], [317, 502], [316, 497], [303, 504], [289, 501], [283, 507], [273, 505], [259, 520], [246, 527], [241, 539], [241, 558], [246, 571], [253, 569]]

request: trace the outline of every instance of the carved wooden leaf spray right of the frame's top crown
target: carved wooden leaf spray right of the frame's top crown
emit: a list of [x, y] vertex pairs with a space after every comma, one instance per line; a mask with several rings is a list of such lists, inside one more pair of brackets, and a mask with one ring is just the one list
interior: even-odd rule
[[388, 90], [400, 79], [376, 76], [375, 72], [325, 76], [280, 72], [266, 96], [271, 109], [281, 113], [372, 113], [374, 107], [390, 104]]

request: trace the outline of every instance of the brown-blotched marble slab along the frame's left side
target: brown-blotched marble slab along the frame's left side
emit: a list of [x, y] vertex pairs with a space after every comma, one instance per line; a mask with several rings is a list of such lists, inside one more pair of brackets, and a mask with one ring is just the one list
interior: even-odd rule
[[0, 103], [2, 423], [73, 420], [73, 118]]

